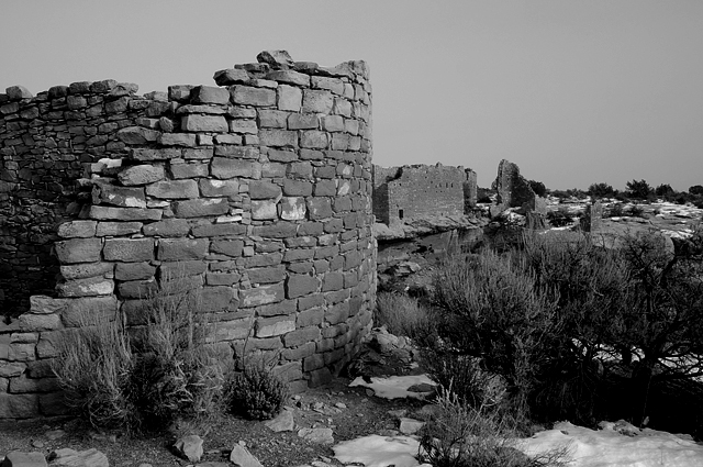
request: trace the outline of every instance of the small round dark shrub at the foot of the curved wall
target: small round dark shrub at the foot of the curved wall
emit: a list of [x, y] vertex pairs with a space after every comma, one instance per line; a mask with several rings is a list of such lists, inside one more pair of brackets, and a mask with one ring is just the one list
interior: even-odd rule
[[272, 419], [289, 396], [288, 385], [261, 359], [247, 359], [226, 383], [230, 411], [250, 420]]

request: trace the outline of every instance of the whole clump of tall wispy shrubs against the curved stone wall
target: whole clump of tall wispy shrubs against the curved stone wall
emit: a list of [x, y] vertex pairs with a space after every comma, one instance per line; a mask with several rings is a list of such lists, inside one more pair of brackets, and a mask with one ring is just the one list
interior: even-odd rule
[[216, 413], [226, 368], [197, 307], [185, 281], [164, 278], [142, 301], [143, 326], [101, 319], [67, 333], [54, 371], [69, 405], [96, 427], [127, 432]]

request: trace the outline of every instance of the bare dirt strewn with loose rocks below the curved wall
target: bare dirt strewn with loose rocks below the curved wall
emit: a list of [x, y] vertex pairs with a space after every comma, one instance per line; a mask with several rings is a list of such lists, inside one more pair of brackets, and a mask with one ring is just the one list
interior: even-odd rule
[[[356, 360], [355, 371], [367, 378], [417, 374], [420, 369], [416, 363], [413, 364], [413, 357], [404, 340], [387, 334], [384, 330], [377, 331]], [[119, 432], [98, 432], [77, 419], [44, 419], [0, 423], [0, 460], [3, 455], [19, 451], [27, 455], [35, 453], [32, 455], [36, 463], [22, 464], [22, 467], [45, 465], [42, 464], [44, 459], [51, 466], [75, 467], [146, 467], [146, 464], [153, 467], [215, 467], [217, 464], [214, 463], [223, 463], [223, 467], [233, 464], [254, 467], [257, 462], [267, 467], [324, 467], [341, 465], [332, 451], [336, 443], [369, 434], [388, 436], [417, 430], [417, 423], [412, 423], [408, 416], [421, 411], [426, 405], [424, 401], [383, 399], [366, 387], [349, 387], [352, 381], [352, 378], [339, 377], [331, 385], [291, 397], [275, 421], [222, 416], [209, 431], [194, 433], [202, 440], [202, 454], [197, 438], [185, 440], [186, 454], [197, 454], [191, 459], [174, 447], [177, 441], [174, 433], [127, 437]], [[194, 442], [190, 451], [189, 442]], [[74, 449], [76, 454], [66, 457], [70, 452], [65, 449]], [[244, 453], [252, 457], [247, 458]], [[18, 453], [8, 457], [12, 456], [16, 459]], [[5, 464], [0, 465], [5, 467]]]

